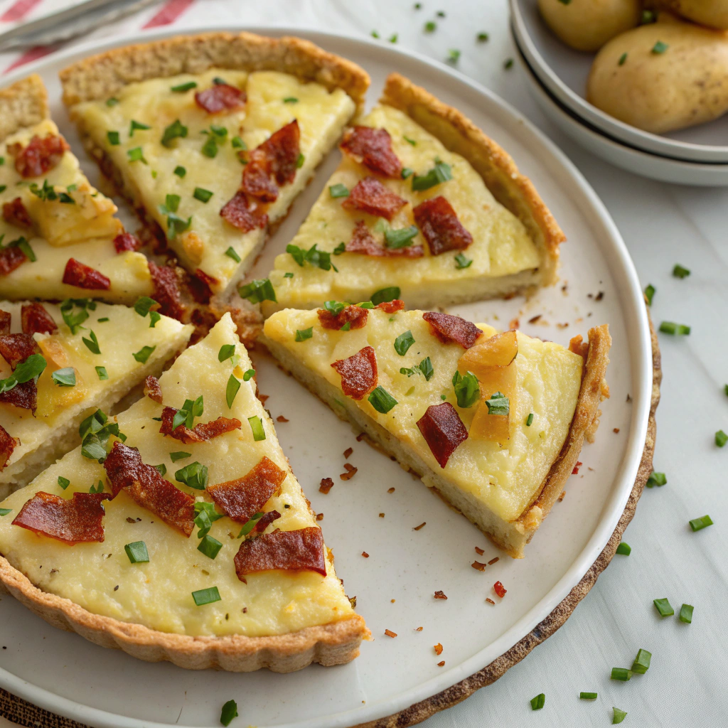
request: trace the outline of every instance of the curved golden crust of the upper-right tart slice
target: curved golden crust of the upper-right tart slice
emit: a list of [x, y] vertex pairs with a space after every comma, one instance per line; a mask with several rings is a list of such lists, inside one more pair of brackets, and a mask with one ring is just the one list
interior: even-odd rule
[[566, 236], [510, 154], [456, 108], [400, 74], [389, 74], [380, 103], [404, 111], [450, 151], [467, 159], [501, 205], [525, 226], [542, 259], [542, 285], [556, 282], [558, 246]]

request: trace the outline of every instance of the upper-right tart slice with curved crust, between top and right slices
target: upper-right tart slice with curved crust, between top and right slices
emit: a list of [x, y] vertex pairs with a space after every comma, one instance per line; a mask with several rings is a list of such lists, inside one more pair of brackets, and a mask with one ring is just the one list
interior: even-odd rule
[[266, 312], [366, 301], [408, 307], [529, 293], [556, 280], [564, 237], [513, 159], [399, 74], [344, 133], [342, 159], [269, 275]]

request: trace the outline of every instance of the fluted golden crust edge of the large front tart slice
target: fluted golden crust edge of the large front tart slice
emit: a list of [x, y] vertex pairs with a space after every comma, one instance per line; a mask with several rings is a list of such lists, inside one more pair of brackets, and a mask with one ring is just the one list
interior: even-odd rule
[[250, 672], [268, 668], [289, 673], [311, 662], [341, 665], [357, 657], [361, 641], [369, 636], [363, 618], [352, 614], [339, 622], [285, 635], [190, 637], [92, 614], [69, 599], [40, 590], [2, 557], [0, 582], [21, 604], [54, 627], [76, 632], [103, 647], [122, 649], [139, 660], [168, 660], [188, 670]]

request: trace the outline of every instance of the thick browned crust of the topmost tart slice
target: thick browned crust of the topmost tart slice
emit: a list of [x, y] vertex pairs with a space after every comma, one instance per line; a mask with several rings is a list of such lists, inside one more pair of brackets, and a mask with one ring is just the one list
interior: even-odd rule
[[106, 99], [127, 84], [208, 68], [282, 71], [304, 81], [340, 88], [362, 108], [369, 87], [363, 68], [300, 38], [253, 33], [200, 33], [143, 43], [84, 58], [60, 72], [63, 102]]

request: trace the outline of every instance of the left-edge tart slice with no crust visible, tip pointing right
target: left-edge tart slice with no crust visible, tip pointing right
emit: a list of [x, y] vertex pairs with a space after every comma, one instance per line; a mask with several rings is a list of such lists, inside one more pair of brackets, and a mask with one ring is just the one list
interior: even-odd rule
[[152, 304], [0, 301], [0, 497], [76, 447], [90, 412], [108, 411], [186, 346], [193, 328]]

